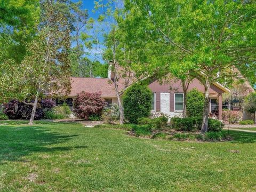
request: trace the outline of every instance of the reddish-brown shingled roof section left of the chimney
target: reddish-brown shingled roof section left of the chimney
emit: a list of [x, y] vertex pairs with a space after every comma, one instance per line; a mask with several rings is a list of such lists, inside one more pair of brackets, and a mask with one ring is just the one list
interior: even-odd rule
[[109, 78], [71, 77], [69, 97], [75, 97], [82, 91], [101, 92], [102, 97], [116, 97], [114, 84]]

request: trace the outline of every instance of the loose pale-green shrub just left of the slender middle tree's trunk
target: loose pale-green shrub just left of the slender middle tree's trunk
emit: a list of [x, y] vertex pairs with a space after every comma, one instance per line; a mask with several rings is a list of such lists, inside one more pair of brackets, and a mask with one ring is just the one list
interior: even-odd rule
[[113, 124], [120, 117], [118, 105], [113, 104], [110, 107], [106, 107], [105, 109], [103, 109], [101, 117], [104, 122]]

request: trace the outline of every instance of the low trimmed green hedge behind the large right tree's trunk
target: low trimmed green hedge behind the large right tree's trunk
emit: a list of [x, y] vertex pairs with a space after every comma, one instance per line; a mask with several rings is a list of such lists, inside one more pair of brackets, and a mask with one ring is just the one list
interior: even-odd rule
[[[174, 117], [171, 118], [171, 125], [173, 129], [178, 131], [201, 130], [202, 121], [203, 119], [198, 117]], [[224, 124], [217, 119], [208, 120], [208, 131], [219, 132], [222, 130], [223, 127]]]

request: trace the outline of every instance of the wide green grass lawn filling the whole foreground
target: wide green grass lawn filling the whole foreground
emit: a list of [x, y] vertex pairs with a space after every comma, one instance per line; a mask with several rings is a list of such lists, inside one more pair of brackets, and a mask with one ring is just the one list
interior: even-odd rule
[[133, 138], [75, 123], [0, 125], [0, 191], [255, 191], [256, 135]]

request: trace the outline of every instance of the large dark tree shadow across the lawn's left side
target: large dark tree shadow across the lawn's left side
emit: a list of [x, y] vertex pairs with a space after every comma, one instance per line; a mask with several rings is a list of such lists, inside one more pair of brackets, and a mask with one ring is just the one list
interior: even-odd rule
[[[65, 135], [51, 132], [41, 126], [0, 126], [0, 164], [4, 161], [23, 161], [21, 157], [34, 152], [55, 153], [75, 147], [51, 147], [77, 135]], [[80, 146], [80, 148], [86, 146]], [[77, 147], [76, 147], [77, 148]]]

